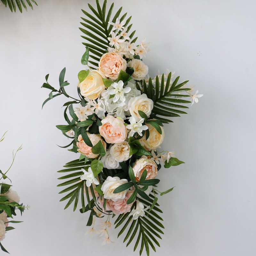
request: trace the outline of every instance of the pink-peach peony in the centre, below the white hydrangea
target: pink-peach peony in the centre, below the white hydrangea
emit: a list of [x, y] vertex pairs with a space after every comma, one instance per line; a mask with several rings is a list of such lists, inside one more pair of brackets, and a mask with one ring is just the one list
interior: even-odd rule
[[127, 137], [127, 129], [124, 125], [124, 120], [114, 116], [106, 116], [101, 120], [99, 126], [100, 135], [107, 143], [123, 142]]

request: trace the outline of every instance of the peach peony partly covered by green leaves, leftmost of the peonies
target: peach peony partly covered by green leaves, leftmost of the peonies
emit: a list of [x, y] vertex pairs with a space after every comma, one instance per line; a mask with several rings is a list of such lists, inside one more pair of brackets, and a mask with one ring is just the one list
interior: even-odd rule
[[[99, 135], [96, 135], [96, 134], [91, 134], [91, 133], [87, 133], [89, 139], [91, 140], [92, 142], [92, 146], [95, 146], [99, 141], [101, 141], [105, 151], [106, 151], [106, 148], [107, 148], [107, 144], [105, 141], [103, 141]], [[96, 158], [98, 155], [96, 154], [93, 154], [92, 153], [92, 147], [88, 146], [83, 138], [82, 138], [82, 135], [80, 134], [77, 138], [77, 140], [79, 142], [76, 142], [76, 146], [78, 147], [77, 151], [80, 152], [82, 155], [88, 157], [88, 158]]]

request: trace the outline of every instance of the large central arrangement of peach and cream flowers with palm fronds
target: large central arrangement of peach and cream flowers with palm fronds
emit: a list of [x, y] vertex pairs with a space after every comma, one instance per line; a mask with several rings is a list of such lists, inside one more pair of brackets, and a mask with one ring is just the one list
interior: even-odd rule
[[183, 163], [174, 152], [159, 151], [163, 124], [172, 122], [168, 117], [186, 113], [180, 108], [188, 108], [184, 104], [191, 101], [184, 98], [192, 97], [193, 104], [202, 94], [192, 95], [193, 89], [184, 87], [188, 81], [179, 83], [179, 76], [172, 81], [171, 72], [147, 77], [142, 57], [148, 44], [136, 44], [131, 17], [125, 19], [125, 13], [119, 18], [120, 8], [111, 18], [114, 4], [108, 12], [107, 1], [102, 7], [98, 0], [96, 4], [97, 9], [88, 4], [92, 14], [82, 10], [86, 51], [81, 62], [89, 69], [78, 73], [79, 98], [65, 91], [65, 68], [58, 90], [48, 83], [49, 74], [42, 85], [51, 90], [43, 106], [62, 94], [71, 99], [63, 105], [68, 124], [57, 128], [72, 139], [64, 148], [71, 146], [68, 150], [79, 156], [58, 171], [68, 173], [59, 178], [66, 180], [58, 185], [66, 186], [60, 193], [67, 193], [60, 201], [68, 200], [65, 209], [74, 202], [75, 211], [80, 196], [80, 212], [90, 212], [87, 226], [92, 232], [95, 217], [107, 216], [103, 244], [111, 242], [107, 228], [110, 217], [116, 217], [115, 228], [122, 227], [118, 236], [126, 233], [127, 245], [134, 240], [134, 251], [140, 244], [140, 254], [145, 248], [149, 255], [149, 246], [156, 251], [157, 239], [164, 234], [157, 196], [173, 189], [159, 192], [157, 173], [162, 163], [165, 168]]

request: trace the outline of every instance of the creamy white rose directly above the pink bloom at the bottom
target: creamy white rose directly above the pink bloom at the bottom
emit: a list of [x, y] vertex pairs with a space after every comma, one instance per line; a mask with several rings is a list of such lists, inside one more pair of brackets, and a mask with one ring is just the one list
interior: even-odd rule
[[108, 178], [103, 182], [101, 186], [101, 191], [103, 191], [104, 198], [105, 199], [111, 199], [114, 202], [117, 202], [120, 199], [124, 199], [126, 196], [126, 193], [129, 189], [126, 189], [120, 193], [114, 194], [114, 190], [119, 187], [120, 185], [123, 185], [127, 183], [128, 180], [122, 179], [120, 180], [119, 177], [111, 177], [108, 176]]

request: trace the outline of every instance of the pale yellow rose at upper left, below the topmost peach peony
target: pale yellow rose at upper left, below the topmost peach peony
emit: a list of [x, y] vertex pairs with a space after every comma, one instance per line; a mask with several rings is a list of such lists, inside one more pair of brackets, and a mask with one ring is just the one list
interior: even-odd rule
[[100, 93], [106, 89], [102, 77], [103, 76], [97, 70], [90, 71], [84, 81], [78, 85], [81, 94], [90, 100], [97, 99]]

